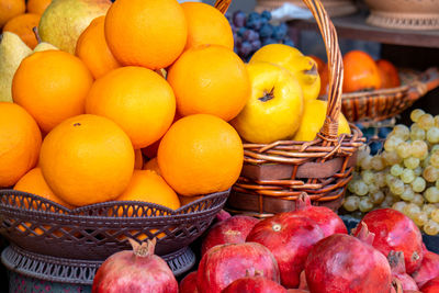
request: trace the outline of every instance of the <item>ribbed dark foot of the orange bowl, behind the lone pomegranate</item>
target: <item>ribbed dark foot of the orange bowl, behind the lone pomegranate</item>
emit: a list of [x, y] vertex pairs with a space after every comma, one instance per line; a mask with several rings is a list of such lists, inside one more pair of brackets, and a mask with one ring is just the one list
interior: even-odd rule
[[[176, 277], [189, 271], [193, 264], [195, 264], [195, 255], [189, 247], [184, 247], [173, 253], [162, 256], [161, 258], [168, 262], [168, 266]], [[20, 277], [27, 278], [30, 279], [29, 281], [32, 279], [40, 283], [42, 283], [41, 281], [45, 281], [86, 286], [93, 283], [94, 274], [102, 263], [102, 261], [63, 259], [37, 255], [13, 245], [7, 247], [1, 252], [1, 261], [4, 267], [12, 272], [11, 275], [15, 278], [15, 281], [16, 278]], [[14, 285], [15, 281], [10, 279], [10, 285]], [[10, 292], [27, 291], [12, 290]]]

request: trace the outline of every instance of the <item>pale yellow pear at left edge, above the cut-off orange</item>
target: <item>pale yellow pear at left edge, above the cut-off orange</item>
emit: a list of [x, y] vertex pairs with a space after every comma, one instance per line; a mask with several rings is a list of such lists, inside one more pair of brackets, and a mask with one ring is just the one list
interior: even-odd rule
[[12, 102], [12, 78], [32, 49], [14, 33], [0, 35], [0, 102]]

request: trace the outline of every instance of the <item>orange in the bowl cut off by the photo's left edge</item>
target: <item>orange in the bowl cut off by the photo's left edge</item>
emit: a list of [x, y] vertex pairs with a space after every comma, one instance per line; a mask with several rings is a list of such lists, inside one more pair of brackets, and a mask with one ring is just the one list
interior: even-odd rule
[[20, 105], [0, 102], [0, 188], [12, 187], [37, 162], [42, 135]]

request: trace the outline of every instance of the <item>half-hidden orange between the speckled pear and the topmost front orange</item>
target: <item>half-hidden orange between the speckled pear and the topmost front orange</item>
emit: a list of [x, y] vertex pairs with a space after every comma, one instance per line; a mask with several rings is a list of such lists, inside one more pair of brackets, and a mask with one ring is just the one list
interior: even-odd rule
[[105, 16], [95, 18], [76, 44], [76, 56], [87, 65], [94, 78], [100, 78], [121, 66], [106, 45], [104, 22]]

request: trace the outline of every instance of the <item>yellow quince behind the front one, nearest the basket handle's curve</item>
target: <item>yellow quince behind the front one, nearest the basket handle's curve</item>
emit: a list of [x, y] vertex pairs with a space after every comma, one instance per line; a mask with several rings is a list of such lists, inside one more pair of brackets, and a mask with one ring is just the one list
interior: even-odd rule
[[320, 91], [320, 77], [316, 61], [304, 56], [299, 49], [283, 45], [270, 44], [258, 49], [251, 63], [266, 61], [282, 66], [296, 76], [302, 86], [303, 99], [315, 100]]

